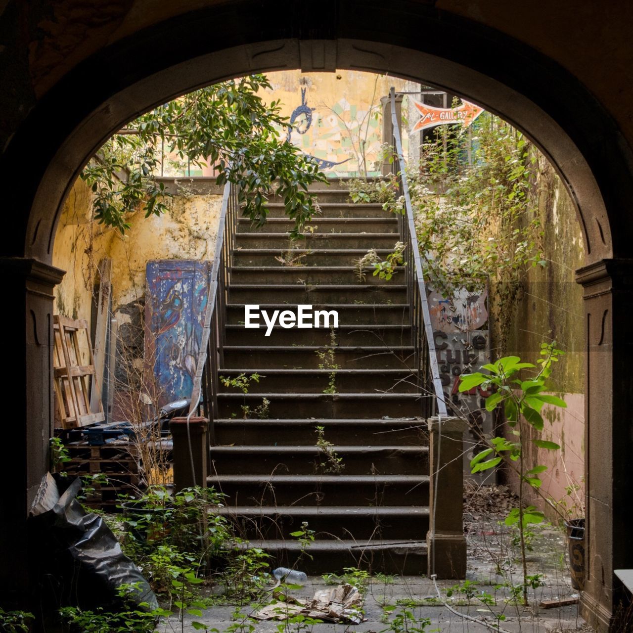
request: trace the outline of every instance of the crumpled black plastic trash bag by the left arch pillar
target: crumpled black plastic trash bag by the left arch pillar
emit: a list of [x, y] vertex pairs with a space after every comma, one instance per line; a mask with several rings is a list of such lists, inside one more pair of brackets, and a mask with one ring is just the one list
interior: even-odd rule
[[77, 501], [81, 480], [66, 479], [47, 473], [30, 511], [47, 584], [54, 579], [60, 602], [83, 609], [120, 606], [119, 587], [134, 584], [127, 604], [147, 611], [158, 608], [141, 570], [123, 554], [103, 517], [86, 512]]

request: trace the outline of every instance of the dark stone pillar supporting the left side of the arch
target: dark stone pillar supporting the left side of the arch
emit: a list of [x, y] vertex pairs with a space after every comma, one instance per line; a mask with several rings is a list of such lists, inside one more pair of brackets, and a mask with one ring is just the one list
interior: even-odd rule
[[64, 272], [37, 260], [0, 258], [0, 273], [4, 293], [0, 591], [6, 607], [26, 606], [30, 596], [37, 596], [35, 574], [29, 573], [34, 561], [28, 558], [32, 548], [28, 548], [26, 522], [35, 492], [49, 470], [54, 417], [53, 289]]

